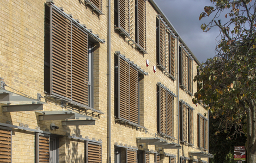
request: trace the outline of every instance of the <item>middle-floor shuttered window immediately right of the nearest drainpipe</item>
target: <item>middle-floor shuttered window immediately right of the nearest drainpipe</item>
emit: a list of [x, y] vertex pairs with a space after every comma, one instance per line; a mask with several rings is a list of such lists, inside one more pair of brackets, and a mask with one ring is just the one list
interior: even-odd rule
[[144, 74], [147, 73], [123, 55], [116, 55], [115, 116], [119, 120], [139, 124], [139, 102], [142, 99]]

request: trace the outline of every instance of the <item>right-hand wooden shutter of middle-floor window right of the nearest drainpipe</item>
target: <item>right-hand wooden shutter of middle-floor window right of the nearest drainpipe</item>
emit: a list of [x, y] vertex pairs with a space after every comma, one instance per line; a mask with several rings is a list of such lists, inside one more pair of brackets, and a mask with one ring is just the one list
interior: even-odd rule
[[130, 66], [130, 121], [138, 124], [138, 71]]

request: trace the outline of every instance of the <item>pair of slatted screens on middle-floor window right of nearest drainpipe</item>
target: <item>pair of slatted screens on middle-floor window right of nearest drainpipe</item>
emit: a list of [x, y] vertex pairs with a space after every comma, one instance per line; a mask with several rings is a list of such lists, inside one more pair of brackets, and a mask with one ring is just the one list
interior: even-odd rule
[[119, 117], [138, 124], [138, 71], [119, 58]]

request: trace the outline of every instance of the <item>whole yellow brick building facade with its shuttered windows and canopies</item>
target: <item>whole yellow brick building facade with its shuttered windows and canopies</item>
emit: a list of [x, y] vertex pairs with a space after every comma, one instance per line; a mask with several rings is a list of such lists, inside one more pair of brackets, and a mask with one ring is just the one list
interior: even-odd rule
[[153, 0], [110, 34], [107, 3], [0, 2], [0, 162], [208, 162], [199, 61]]

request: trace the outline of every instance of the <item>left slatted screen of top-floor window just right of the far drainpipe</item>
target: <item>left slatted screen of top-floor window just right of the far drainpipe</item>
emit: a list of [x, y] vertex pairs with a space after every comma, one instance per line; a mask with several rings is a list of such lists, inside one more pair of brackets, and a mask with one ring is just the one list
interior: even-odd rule
[[181, 85], [187, 87], [187, 53], [184, 48], [181, 48]]

